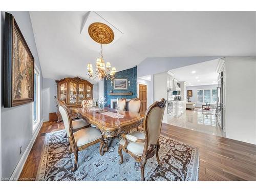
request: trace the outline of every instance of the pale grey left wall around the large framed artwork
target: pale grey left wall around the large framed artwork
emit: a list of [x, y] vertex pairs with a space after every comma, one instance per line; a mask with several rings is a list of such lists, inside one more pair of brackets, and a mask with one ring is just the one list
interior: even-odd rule
[[[13, 14], [16, 22], [22, 31], [25, 40], [34, 56], [35, 65], [40, 72], [40, 98], [42, 98], [42, 73], [37, 54], [33, 29], [28, 11], [9, 11]], [[1, 25], [4, 33], [5, 12], [1, 12]], [[1, 38], [3, 37], [1, 35]], [[1, 47], [3, 48], [3, 39]], [[3, 55], [1, 56], [1, 69], [3, 70]], [[2, 81], [3, 79], [1, 79]], [[3, 90], [1, 90], [3, 91]], [[32, 105], [33, 103], [15, 106], [13, 108], [4, 108], [2, 100], [2, 178], [10, 178], [20, 158], [22, 158], [29, 142], [34, 136], [32, 130]], [[40, 101], [40, 121], [42, 120], [42, 99]], [[19, 146], [22, 146], [23, 152], [19, 155]]]

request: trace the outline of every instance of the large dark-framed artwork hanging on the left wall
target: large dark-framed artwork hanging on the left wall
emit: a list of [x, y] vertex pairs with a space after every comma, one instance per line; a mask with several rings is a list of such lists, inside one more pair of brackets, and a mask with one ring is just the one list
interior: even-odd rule
[[5, 14], [4, 106], [34, 101], [34, 57], [12, 14]]

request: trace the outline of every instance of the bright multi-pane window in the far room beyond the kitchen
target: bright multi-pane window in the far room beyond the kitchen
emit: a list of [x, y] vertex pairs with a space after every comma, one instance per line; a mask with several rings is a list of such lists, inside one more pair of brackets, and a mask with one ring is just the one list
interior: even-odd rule
[[197, 102], [198, 103], [211, 103], [217, 102], [217, 89], [201, 89], [197, 90]]

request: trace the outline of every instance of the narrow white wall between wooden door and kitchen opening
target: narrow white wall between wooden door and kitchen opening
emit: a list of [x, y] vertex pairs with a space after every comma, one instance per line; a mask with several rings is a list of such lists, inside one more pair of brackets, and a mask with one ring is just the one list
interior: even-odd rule
[[[154, 102], [160, 101], [162, 98], [167, 100], [167, 71], [154, 75]], [[163, 122], [167, 123], [167, 106], [165, 107]]]

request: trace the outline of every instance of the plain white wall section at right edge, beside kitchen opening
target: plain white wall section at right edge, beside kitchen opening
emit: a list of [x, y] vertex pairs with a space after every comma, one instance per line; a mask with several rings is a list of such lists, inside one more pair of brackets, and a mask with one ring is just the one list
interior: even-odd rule
[[256, 144], [256, 56], [225, 61], [226, 137]]

